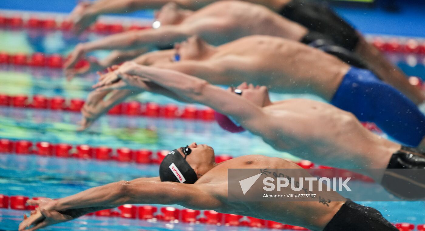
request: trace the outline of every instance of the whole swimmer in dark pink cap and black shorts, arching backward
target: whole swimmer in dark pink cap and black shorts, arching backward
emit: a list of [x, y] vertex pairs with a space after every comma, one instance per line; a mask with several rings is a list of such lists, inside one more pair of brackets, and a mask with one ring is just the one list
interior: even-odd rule
[[[220, 124], [226, 130], [229, 125], [243, 127], [278, 151], [325, 166], [353, 169], [401, 198], [417, 199], [425, 194], [424, 177], [405, 182], [406, 176], [394, 175], [391, 170], [385, 172], [384, 180], [383, 175], [372, 174], [374, 169], [425, 169], [422, 152], [382, 139], [365, 129], [353, 114], [330, 104], [308, 99], [271, 102], [264, 86], [243, 83], [237, 90], [226, 91], [184, 73], [134, 63], [114, 72], [119, 81], [97, 91], [139, 89], [204, 104], [228, 116], [229, 120]], [[406, 185], [394, 188], [394, 179]], [[406, 194], [407, 188], [419, 194]]]

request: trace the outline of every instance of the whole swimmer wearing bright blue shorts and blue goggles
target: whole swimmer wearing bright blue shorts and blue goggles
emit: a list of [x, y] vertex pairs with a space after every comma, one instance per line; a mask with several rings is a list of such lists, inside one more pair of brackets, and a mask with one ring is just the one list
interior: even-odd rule
[[[260, 35], [218, 47], [192, 37], [178, 47], [178, 51], [145, 54], [136, 62], [177, 70], [212, 84], [249, 82], [278, 93], [316, 94], [353, 113], [360, 121], [374, 122], [402, 144], [425, 148], [425, 116], [412, 101], [370, 71], [353, 68], [315, 48], [289, 39]], [[180, 54], [178, 62], [172, 61], [175, 52]], [[121, 70], [131, 71], [129, 68], [136, 70], [138, 65]], [[109, 74], [96, 87], [116, 81], [116, 78]], [[88, 101], [96, 104], [96, 100]]]

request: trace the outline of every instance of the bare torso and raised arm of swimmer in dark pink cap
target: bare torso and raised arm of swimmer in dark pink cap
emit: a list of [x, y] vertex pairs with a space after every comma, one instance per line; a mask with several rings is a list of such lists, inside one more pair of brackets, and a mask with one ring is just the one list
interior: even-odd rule
[[[238, 96], [205, 80], [172, 70], [127, 62], [117, 71], [143, 76], [175, 95], [229, 115], [273, 148], [322, 165], [385, 169], [391, 155], [401, 147], [366, 130], [353, 114], [330, 104], [289, 99], [258, 105], [245, 99], [244, 93]], [[268, 98], [268, 93], [262, 92], [255, 97]], [[380, 181], [379, 177], [376, 180]]]

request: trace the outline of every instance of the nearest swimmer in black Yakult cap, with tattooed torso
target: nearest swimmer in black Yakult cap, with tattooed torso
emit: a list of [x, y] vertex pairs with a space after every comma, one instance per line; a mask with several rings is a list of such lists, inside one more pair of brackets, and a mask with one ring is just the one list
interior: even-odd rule
[[[181, 172], [184, 181], [170, 170], [172, 164]], [[227, 169], [300, 169], [300, 177], [311, 177], [295, 163], [263, 155], [245, 155], [216, 164], [210, 146], [193, 143], [170, 152], [159, 167], [159, 177], [110, 183], [58, 200], [28, 200], [28, 204], [38, 205], [38, 208], [19, 225], [19, 231], [34, 231], [123, 204], [178, 204], [196, 210], [214, 210], [299, 225], [314, 231], [397, 231], [376, 209], [361, 206], [333, 191], [314, 190], [329, 203], [321, 203], [319, 199], [303, 202], [229, 201]]]

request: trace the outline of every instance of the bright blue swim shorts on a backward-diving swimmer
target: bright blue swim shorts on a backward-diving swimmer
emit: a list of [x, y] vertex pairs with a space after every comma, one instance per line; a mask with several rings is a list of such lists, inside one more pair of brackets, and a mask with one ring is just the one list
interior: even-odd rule
[[360, 121], [408, 146], [419, 146], [425, 136], [425, 115], [406, 96], [380, 81], [370, 71], [351, 68], [331, 101]]

